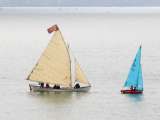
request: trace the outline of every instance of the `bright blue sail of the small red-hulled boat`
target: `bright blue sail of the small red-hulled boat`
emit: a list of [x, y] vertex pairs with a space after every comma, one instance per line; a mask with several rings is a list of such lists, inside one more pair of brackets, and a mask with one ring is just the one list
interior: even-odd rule
[[139, 47], [133, 64], [130, 68], [124, 87], [136, 87], [137, 90], [143, 90], [143, 77], [141, 67], [141, 46]]

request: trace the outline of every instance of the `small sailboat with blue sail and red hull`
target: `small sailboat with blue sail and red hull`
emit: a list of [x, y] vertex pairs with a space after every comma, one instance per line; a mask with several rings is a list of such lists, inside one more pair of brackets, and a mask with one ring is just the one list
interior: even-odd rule
[[142, 94], [143, 93], [143, 77], [141, 66], [141, 46], [139, 47], [133, 64], [130, 68], [128, 78], [125, 81], [123, 94]]

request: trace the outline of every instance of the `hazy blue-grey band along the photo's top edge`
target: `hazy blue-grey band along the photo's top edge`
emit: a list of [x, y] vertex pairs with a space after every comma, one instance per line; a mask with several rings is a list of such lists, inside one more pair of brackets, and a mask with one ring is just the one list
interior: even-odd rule
[[0, 0], [0, 7], [12, 6], [160, 6], [160, 0]]

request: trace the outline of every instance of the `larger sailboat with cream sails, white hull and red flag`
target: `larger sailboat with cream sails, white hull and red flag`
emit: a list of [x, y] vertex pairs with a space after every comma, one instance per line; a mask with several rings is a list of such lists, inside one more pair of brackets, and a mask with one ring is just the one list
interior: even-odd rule
[[58, 26], [50, 27], [48, 32], [55, 33], [27, 78], [27, 80], [36, 82], [36, 84], [29, 84], [30, 90], [48, 92], [88, 91], [91, 85], [80, 64], [71, 54], [71, 50], [64, 41]]

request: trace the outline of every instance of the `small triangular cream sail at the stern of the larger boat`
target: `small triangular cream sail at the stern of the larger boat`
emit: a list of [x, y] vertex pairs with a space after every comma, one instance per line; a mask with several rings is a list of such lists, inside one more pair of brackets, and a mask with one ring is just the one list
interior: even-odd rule
[[75, 64], [76, 64], [76, 81], [79, 81], [80, 83], [83, 83], [83, 84], [90, 85], [89, 81], [87, 80], [77, 60], [75, 60]]

